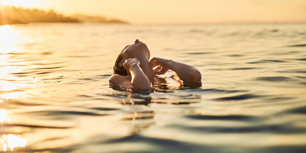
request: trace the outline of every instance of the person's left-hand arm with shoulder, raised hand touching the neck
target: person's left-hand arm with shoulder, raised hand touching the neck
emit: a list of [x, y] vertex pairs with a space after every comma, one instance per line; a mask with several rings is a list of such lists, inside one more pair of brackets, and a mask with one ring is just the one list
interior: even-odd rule
[[123, 67], [127, 70], [126, 77], [114, 74], [110, 78], [110, 83], [119, 85], [124, 89], [133, 90], [149, 90], [151, 89], [151, 83], [140, 68], [140, 63], [136, 58], [128, 59], [123, 63]]

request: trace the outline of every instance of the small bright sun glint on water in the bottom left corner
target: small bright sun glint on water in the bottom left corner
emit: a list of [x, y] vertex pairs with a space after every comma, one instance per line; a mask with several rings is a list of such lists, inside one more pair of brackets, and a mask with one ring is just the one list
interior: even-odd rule
[[[2, 151], [13, 151], [16, 147], [24, 147], [25, 146], [25, 139], [19, 138], [19, 136], [16, 135], [3, 135], [0, 137], [1, 144], [3, 146]], [[0, 147], [1, 151], [1, 147]]]

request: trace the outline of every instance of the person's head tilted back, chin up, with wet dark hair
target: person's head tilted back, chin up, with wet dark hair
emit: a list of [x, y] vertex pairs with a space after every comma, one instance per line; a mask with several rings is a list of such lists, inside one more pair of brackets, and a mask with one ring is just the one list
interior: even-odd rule
[[115, 65], [113, 67], [113, 74], [126, 76], [127, 71], [123, 67], [123, 63], [129, 58], [137, 58], [140, 62], [143, 60], [148, 61], [150, 58], [150, 51], [145, 43], [136, 39], [134, 44], [125, 46], [118, 54]]

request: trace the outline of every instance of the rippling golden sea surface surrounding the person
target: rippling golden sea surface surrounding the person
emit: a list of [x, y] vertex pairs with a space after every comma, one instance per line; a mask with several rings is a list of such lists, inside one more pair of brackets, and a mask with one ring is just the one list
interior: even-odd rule
[[[110, 88], [135, 39], [202, 86]], [[306, 23], [4, 25], [0, 139], [5, 152], [305, 152]]]

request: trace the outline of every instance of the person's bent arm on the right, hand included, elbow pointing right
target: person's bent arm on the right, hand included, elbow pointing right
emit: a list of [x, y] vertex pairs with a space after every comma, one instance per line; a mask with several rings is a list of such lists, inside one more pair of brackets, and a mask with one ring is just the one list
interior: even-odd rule
[[201, 73], [190, 65], [162, 58], [152, 58], [150, 64], [153, 68], [157, 67], [154, 69], [157, 75], [165, 74], [168, 70], [172, 70], [184, 83], [201, 82]]

